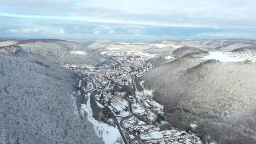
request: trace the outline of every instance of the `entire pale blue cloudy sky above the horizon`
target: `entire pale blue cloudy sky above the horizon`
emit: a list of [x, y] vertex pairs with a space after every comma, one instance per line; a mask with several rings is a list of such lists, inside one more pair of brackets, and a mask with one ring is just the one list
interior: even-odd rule
[[255, 0], [0, 0], [0, 37], [254, 39], [255, 8]]

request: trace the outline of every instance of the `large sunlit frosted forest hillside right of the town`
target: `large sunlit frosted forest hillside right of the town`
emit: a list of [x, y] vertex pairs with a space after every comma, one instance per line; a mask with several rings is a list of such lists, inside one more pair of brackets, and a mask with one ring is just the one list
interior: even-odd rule
[[174, 127], [196, 123], [196, 133], [208, 142], [256, 143], [256, 64], [202, 59], [207, 53], [177, 55], [145, 73], [137, 86], [144, 81], [154, 89]]

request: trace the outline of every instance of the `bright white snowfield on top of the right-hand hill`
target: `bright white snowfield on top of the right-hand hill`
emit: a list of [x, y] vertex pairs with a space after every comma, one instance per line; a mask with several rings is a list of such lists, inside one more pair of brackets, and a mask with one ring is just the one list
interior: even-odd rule
[[241, 62], [245, 61], [240, 58], [232, 57], [227, 52], [214, 51], [209, 52], [210, 55], [203, 57], [202, 59], [217, 59], [220, 62]]

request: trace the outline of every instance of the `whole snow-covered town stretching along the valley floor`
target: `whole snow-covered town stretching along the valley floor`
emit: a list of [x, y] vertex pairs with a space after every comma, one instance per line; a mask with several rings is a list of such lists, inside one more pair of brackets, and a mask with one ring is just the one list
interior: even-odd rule
[[[165, 119], [164, 106], [152, 99], [154, 91], [137, 91], [135, 79], [153, 68], [148, 60], [155, 55], [120, 51], [101, 54], [112, 63], [65, 67], [87, 76], [84, 90], [91, 93], [98, 107], [95, 109], [100, 109], [97, 119], [117, 127], [124, 143], [202, 143], [191, 132], [167, 129], [170, 123]], [[139, 83], [143, 87], [143, 82]]]

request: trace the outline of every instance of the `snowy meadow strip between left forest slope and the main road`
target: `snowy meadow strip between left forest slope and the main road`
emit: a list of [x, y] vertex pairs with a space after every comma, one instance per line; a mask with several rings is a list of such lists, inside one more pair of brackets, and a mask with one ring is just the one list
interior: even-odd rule
[[119, 130], [117, 128], [114, 128], [106, 123], [97, 121], [94, 117], [92, 117], [90, 93], [88, 93], [88, 100], [86, 105], [81, 105], [81, 112], [84, 113], [84, 111], [88, 114], [87, 118], [89, 122], [91, 122], [94, 125], [94, 130], [97, 133], [98, 137], [102, 137], [102, 140], [105, 143], [115, 143], [117, 137], [121, 137]]

